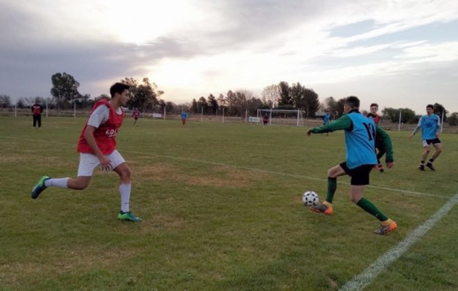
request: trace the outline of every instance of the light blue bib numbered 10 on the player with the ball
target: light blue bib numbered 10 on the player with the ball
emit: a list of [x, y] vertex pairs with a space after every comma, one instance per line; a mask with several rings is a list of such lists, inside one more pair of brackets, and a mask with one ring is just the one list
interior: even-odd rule
[[348, 117], [353, 124], [353, 130], [345, 130], [348, 168], [376, 165], [374, 121], [359, 112], [351, 112]]

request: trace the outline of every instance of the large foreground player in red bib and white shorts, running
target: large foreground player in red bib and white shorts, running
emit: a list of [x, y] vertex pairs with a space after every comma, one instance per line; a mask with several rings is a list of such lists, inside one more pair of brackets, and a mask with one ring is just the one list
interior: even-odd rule
[[142, 219], [129, 210], [130, 168], [116, 150], [116, 136], [124, 120], [122, 106], [126, 106], [130, 98], [129, 86], [117, 82], [110, 87], [110, 94], [112, 97], [110, 101], [102, 99], [92, 107], [90, 118], [80, 134], [77, 147], [80, 152], [80, 164], [76, 179], [69, 177], [51, 179], [43, 176], [33, 188], [31, 197], [37, 199], [38, 195], [50, 186], [83, 190], [89, 185], [94, 169], [100, 165], [102, 170], [113, 170], [121, 179], [119, 185], [121, 210], [118, 219], [139, 222]]

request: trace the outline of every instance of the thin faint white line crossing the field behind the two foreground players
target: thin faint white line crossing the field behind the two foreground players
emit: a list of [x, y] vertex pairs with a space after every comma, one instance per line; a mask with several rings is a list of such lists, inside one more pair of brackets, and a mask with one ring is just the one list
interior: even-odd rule
[[[22, 138], [22, 137], [16, 137], [16, 136], [2, 136], [2, 137], [8, 137], [10, 139], [24, 139], [27, 141], [42, 141], [45, 143], [58, 143], [62, 145], [74, 145], [73, 143], [63, 143], [61, 141], [44, 141], [42, 139], [28, 139], [28, 138]], [[201, 159], [193, 159], [189, 157], [176, 157], [176, 156], [170, 156], [170, 155], [158, 155], [158, 154], [153, 154], [151, 152], [136, 152], [133, 150], [121, 150], [121, 152], [129, 152], [131, 154], [136, 154], [136, 155], [147, 155], [147, 156], [153, 156], [153, 157], [164, 157], [167, 159], [177, 159], [181, 161], [194, 161], [196, 163], [202, 163], [202, 164], [209, 164], [209, 165], [214, 165], [214, 166], [226, 166], [226, 167], [232, 167], [232, 168], [239, 168], [243, 170], [251, 170], [255, 171], [258, 173], [266, 173], [266, 174], [271, 174], [271, 175], [280, 175], [280, 176], [285, 176], [285, 177], [293, 177], [293, 178], [298, 178], [298, 179], [309, 179], [312, 181], [319, 181], [319, 182], [327, 182], [328, 179], [322, 179], [322, 178], [314, 178], [314, 177], [307, 177], [303, 175], [294, 175], [294, 174], [288, 174], [288, 173], [280, 173], [280, 172], [274, 172], [271, 170], [262, 170], [258, 168], [250, 168], [246, 166], [235, 166], [235, 165], [230, 165], [230, 164], [224, 164], [216, 161], [204, 161]], [[350, 185], [348, 182], [338, 182], [339, 184], [343, 185]], [[436, 194], [431, 194], [431, 193], [422, 193], [422, 192], [417, 192], [417, 191], [409, 191], [409, 190], [403, 190], [403, 189], [397, 189], [397, 188], [389, 188], [389, 187], [382, 187], [382, 186], [375, 186], [375, 185], [366, 185], [367, 188], [375, 188], [375, 189], [381, 189], [381, 190], [386, 190], [386, 191], [392, 191], [392, 192], [398, 192], [398, 193], [403, 193], [403, 194], [410, 194], [410, 195], [416, 195], [416, 196], [427, 196], [427, 197], [438, 197], [438, 198], [443, 198], [447, 199], [448, 196], [444, 195], [436, 195]]]

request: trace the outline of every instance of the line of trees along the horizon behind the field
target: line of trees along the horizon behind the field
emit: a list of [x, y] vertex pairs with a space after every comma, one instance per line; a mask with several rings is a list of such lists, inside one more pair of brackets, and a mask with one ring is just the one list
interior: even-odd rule
[[[320, 115], [325, 109], [328, 109], [334, 118], [343, 115], [343, 103], [345, 98], [336, 99], [332, 96], [325, 98], [322, 103], [319, 102], [319, 96], [313, 89], [309, 89], [300, 82], [289, 85], [288, 82], [282, 81], [265, 87], [262, 90], [262, 96], [257, 97], [249, 90], [228, 90], [224, 94], [214, 96], [209, 94], [207, 98], [201, 96], [191, 103], [175, 104], [166, 102], [160, 96], [164, 91], [158, 89], [158, 85], [151, 82], [149, 78], [143, 78], [141, 82], [134, 78], [124, 78], [120, 80], [130, 86], [130, 100], [127, 107], [129, 109], [137, 108], [142, 112], [164, 112], [178, 113], [182, 110], [193, 114], [210, 114], [217, 115], [224, 113], [227, 116], [244, 117], [246, 112], [255, 115], [257, 109], [299, 109], [306, 112], [307, 117]], [[110, 98], [108, 94], [101, 94], [91, 98], [90, 94], [80, 94], [78, 91], [80, 83], [75, 80], [74, 76], [68, 73], [55, 73], [51, 76], [51, 96], [43, 98], [21, 97], [15, 105], [19, 108], [31, 107], [38, 101], [42, 104], [47, 103], [50, 109], [90, 109], [101, 98]], [[10, 96], [0, 95], [0, 107], [8, 108], [12, 106]], [[450, 125], [458, 125], [458, 112], [453, 112], [447, 116], [448, 111], [439, 103], [434, 103], [434, 113], [443, 116], [444, 121]], [[382, 109], [383, 117], [387, 120], [398, 123], [418, 123], [421, 115], [417, 115], [409, 108], [392, 108], [385, 107]]]

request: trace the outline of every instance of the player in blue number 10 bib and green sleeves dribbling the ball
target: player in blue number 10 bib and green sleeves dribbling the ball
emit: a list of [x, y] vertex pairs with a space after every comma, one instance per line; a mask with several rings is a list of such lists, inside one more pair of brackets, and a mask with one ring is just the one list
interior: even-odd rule
[[391, 139], [389, 139], [386, 132], [375, 125], [372, 119], [359, 112], [359, 99], [356, 96], [346, 98], [343, 109], [346, 114], [341, 118], [328, 125], [311, 128], [307, 132], [307, 135], [311, 135], [312, 133], [319, 134], [334, 130], [345, 130], [346, 143], [346, 161], [328, 170], [328, 194], [326, 195], [326, 200], [323, 204], [311, 206], [310, 210], [327, 215], [332, 214], [332, 200], [337, 190], [337, 177], [349, 175], [351, 177], [350, 197], [352, 202], [380, 220], [382, 225], [374, 231], [375, 233], [389, 233], [396, 229], [398, 224], [378, 210], [371, 201], [364, 198], [363, 191], [364, 185], [369, 184], [371, 169], [377, 164], [377, 157], [375, 156], [376, 135], [380, 134], [383, 138], [382, 143], [387, 144], [387, 155], [391, 157], [390, 161], [387, 160], [387, 168], [394, 166]]

